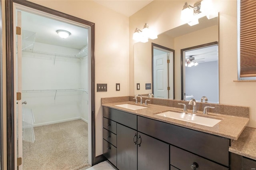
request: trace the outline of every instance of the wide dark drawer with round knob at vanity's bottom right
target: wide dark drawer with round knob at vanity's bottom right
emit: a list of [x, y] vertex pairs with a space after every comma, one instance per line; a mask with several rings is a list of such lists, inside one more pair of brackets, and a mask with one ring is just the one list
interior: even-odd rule
[[185, 150], [170, 146], [170, 164], [181, 169], [192, 169], [192, 165], [197, 165], [197, 170], [228, 170], [228, 168], [194, 155]]

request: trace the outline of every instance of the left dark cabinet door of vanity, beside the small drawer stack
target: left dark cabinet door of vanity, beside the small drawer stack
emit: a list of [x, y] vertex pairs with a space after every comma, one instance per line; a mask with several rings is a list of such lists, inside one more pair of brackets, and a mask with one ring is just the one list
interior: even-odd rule
[[117, 165], [119, 170], [137, 169], [137, 131], [117, 124]]

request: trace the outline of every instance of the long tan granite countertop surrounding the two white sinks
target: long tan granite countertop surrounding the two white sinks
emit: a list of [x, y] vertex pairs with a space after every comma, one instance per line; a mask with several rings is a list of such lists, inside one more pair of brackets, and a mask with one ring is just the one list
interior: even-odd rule
[[[244, 130], [244, 128], [246, 127], [246, 125], [249, 122], [249, 118], [246, 118], [246, 117], [236, 117], [236, 116], [230, 116], [230, 115], [224, 115], [224, 114], [209, 113], [209, 111], [208, 111], [208, 115], [203, 115], [202, 112], [198, 111], [198, 113], [196, 113], [196, 115], [222, 120], [218, 124], [214, 125], [213, 127], [208, 127], [208, 126], [204, 126], [204, 125], [198, 125], [195, 123], [180, 121], [177, 119], [172, 119], [172, 118], [156, 115], [157, 113], [162, 113], [165, 111], [183, 112], [183, 106], [181, 106], [181, 108], [174, 108], [174, 107], [149, 104], [146, 106], [147, 108], [138, 109], [138, 110], [131, 110], [131, 109], [126, 109], [126, 108], [115, 106], [115, 105], [120, 105], [120, 104], [125, 104], [125, 103], [135, 104], [134, 102], [126, 101], [126, 102], [118, 102], [118, 103], [104, 103], [104, 104], [102, 104], [102, 106], [110, 107], [113, 109], [118, 109], [121, 111], [125, 111], [128, 113], [132, 113], [132, 114], [143, 116], [143, 117], [148, 117], [151, 119], [170, 123], [173, 125], [178, 125], [180, 127], [186, 127], [186, 128], [190, 128], [193, 130], [206, 132], [209, 134], [215, 134], [215, 135], [222, 136], [225, 138], [230, 138], [233, 140], [238, 139], [238, 137], [240, 136], [240, 134], [242, 133], [242, 131]], [[143, 106], [145, 106], [145, 105], [143, 105]], [[188, 112], [186, 112], [186, 113], [192, 113], [192, 111], [188, 110]]]

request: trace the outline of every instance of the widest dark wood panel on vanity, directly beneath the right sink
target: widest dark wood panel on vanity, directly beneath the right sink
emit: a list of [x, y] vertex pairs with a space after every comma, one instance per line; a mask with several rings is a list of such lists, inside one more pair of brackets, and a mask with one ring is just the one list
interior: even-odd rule
[[138, 131], [229, 166], [229, 139], [138, 116]]

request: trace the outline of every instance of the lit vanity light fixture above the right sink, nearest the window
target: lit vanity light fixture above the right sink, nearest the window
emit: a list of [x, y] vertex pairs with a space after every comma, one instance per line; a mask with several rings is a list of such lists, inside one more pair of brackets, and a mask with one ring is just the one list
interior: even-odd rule
[[184, 20], [190, 26], [198, 24], [198, 19], [206, 16], [208, 19], [218, 16], [213, 8], [212, 0], [200, 0], [191, 6], [188, 2], [185, 2], [181, 11], [181, 20]]

